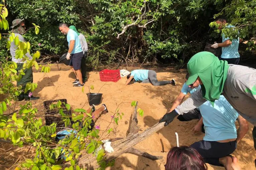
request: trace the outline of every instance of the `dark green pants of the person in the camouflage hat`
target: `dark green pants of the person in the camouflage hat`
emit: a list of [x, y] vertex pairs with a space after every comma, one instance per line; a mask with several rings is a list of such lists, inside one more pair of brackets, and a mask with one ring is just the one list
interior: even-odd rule
[[[21, 70], [23, 67], [23, 63], [17, 63], [17, 71]], [[25, 87], [26, 87], [26, 84], [28, 82], [31, 82], [33, 83], [33, 71], [32, 71], [32, 68], [29, 68], [29, 69], [25, 69], [24, 71], [25, 75], [23, 75], [21, 77], [21, 79], [19, 81], [17, 81], [17, 86], [22, 86], [22, 91], [23, 93], [21, 95], [24, 94], [24, 90], [25, 90]], [[28, 91], [26, 94], [24, 94], [24, 97], [27, 97], [28, 96], [28, 93], [30, 91]]]

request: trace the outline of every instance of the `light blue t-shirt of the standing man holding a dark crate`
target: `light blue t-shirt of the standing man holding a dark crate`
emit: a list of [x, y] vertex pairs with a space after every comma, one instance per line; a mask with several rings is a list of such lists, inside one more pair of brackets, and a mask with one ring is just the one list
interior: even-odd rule
[[[227, 26], [228, 28], [234, 27], [233, 25]], [[225, 38], [225, 34], [222, 34], [222, 42], [229, 40], [228, 38]], [[233, 39], [232, 44], [227, 47], [222, 47], [222, 54], [221, 58], [238, 58], [240, 57], [238, 53], [238, 46], [239, 46], [239, 37], [238, 39]]]

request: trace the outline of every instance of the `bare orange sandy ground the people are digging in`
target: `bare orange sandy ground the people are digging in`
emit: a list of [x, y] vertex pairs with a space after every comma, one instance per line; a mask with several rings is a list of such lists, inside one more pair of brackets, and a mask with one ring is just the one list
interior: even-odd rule
[[[56, 70], [56, 69], [55, 69]], [[112, 137], [126, 137], [129, 122], [133, 113], [131, 102], [136, 100], [139, 102], [139, 107], [144, 110], [144, 116], [138, 116], [138, 126], [141, 131], [156, 124], [159, 119], [166, 113], [166, 109], [170, 108], [172, 102], [179, 94], [182, 84], [184, 83], [185, 74], [168, 72], [166, 69], [164, 72], [157, 70], [158, 80], [176, 80], [176, 86], [165, 85], [165, 86], [152, 86], [151, 84], [134, 83], [129, 86], [124, 86], [126, 78], [121, 78], [118, 82], [101, 82], [99, 72], [88, 72], [88, 81], [85, 83], [84, 93], [82, 93], [82, 87], [73, 87], [72, 82], [74, 81], [73, 73], [62, 67], [61, 71], [51, 71], [50, 73], [34, 73], [34, 82], [38, 83], [38, 88], [33, 92], [34, 96], [39, 96], [40, 99], [33, 101], [33, 105], [38, 109], [43, 108], [43, 101], [53, 99], [67, 99], [72, 109], [89, 107], [87, 95], [89, 87], [94, 86], [94, 90], [90, 92], [103, 93], [102, 103], [105, 103], [108, 107], [109, 113], [102, 115], [100, 120], [96, 122], [101, 130], [105, 130], [110, 124], [110, 127], [114, 128], [113, 133], [109, 136]], [[25, 102], [20, 102], [24, 104]], [[120, 105], [119, 105], [120, 104]], [[119, 105], [119, 106], [118, 106]], [[99, 108], [101, 105], [97, 106]], [[109, 123], [111, 121], [111, 115], [114, 114], [115, 110], [119, 108], [119, 112], [123, 112], [124, 116], [119, 121], [119, 125]], [[39, 113], [43, 115], [44, 113]], [[44, 121], [44, 118], [43, 118]], [[166, 162], [167, 152], [171, 147], [176, 146], [175, 132], [179, 135], [180, 145], [191, 145], [196, 141], [202, 140], [204, 137], [203, 133], [194, 134], [191, 129], [197, 124], [197, 120], [189, 122], [179, 122], [175, 119], [169, 126], [164, 127], [157, 133], [148, 137], [146, 140], [135, 145], [135, 148], [142, 151], [147, 151], [150, 154], [156, 156], [163, 156], [162, 160], [152, 161], [141, 156], [135, 156], [132, 154], [123, 154], [116, 159], [114, 167], [108, 169], [123, 169], [123, 170], [162, 170]], [[252, 140], [252, 128], [250, 124], [249, 132], [246, 134], [244, 139], [238, 144], [236, 151], [232, 154], [239, 160], [239, 164], [242, 169], [251, 170], [255, 169], [254, 159], [256, 158], [256, 152], [253, 148]], [[0, 147], [7, 151], [10, 146], [0, 142]], [[0, 149], [1, 149], [0, 148]], [[5, 156], [15, 155], [18, 149], [11, 150], [5, 154], [1, 154], [0, 164], [6, 167], [8, 164], [15, 163], [16, 160], [10, 160], [6, 162]], [[25, 150], [24, 152], [27, 152]], [[24, 154], [23, 152], [23, 154]], [[21, 153], [22, 154], [22, 153]], [[10, 159], [10, 158], [9, 158]], [[208, 165], [210, 170], [224, 169], [223, 167], [216, 167]], [[1, 168], [2, 169], [2, 168]]]

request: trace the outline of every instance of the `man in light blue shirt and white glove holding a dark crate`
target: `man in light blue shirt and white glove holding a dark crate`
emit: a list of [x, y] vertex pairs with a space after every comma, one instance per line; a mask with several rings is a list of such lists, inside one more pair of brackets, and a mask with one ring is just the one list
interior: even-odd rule
[[[227, 24], [227, 19], [225, 16], [218, 16], [215, 19], [217, 24], [220, 24], [218, 29], [222, 29], [223, 25]], [[228, 25], [228, 28], [234, 27], [233, 25]], [[240, 61], [240, 55], [238, 53], [239, 43], [243, 40], [238, 36], [230, 41], [229, 37], [225, 38], [225, 34], [222, 33], [222, 43], [215, 43], [212, 45], [213, 48], [222, 47], [222, 54], [220, 60], [228, 61], [228, 64], [238, 64]]]

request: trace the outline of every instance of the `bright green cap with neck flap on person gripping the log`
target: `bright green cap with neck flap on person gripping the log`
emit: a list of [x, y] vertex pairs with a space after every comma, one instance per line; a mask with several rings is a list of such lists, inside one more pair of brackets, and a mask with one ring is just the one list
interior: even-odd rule
[[186, 85], [194, 83], [199, 77], [202, 81], [203, 97], [214, 106], [220, 98], [228, 73], [228, 62], [219, 60], [213, 53], [203, 51], [195, 54], [187, 63], [189, 78]]

